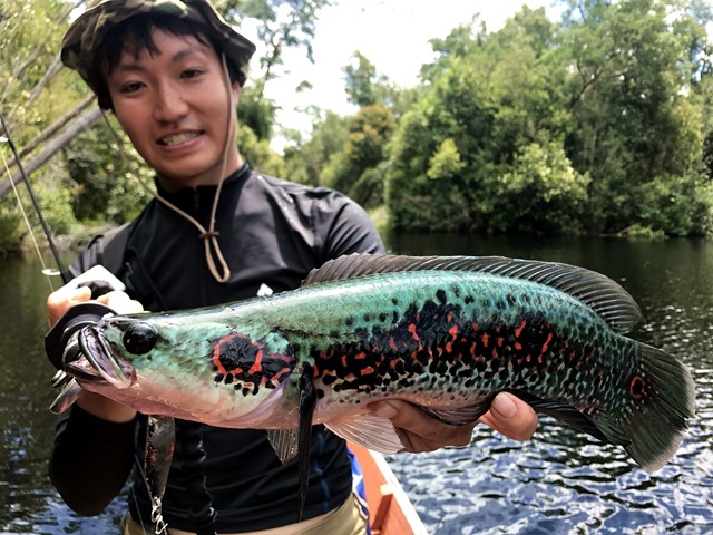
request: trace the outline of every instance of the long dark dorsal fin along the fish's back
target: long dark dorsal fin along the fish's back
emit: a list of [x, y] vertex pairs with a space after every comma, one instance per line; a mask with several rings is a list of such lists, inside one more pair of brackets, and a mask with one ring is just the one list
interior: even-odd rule
[[634, 298], [608, 276], [570, 264], [505, 256], [402, 256], [354, 253], [312, 270], [302, 286], [406, 271], [469, 271], [522, 279], [565, 292], [590, 307], [617, 332], [644, 321]]

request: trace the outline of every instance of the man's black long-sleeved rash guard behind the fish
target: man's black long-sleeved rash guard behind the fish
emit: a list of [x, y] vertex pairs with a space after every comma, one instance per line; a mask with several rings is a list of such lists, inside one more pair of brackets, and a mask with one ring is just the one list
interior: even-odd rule
[[[159, 193], [205, 227], [215, 186]], [[261, 288], [281, 292], [299, 286], [314, 268], [353, 252], [383, 252], [364, 211], [326, 188], [310, 188], [251, 171], [247, 165], [222, 186], [216, 215], [218, 243], [231, 269], [219, 283], [211, 275], [198, 231], [184, 217], [152, 201], [129, 225], [117, 266], [108, 266], [127, 293], [147, 310], [177, 310], [253, 298]], [[74, 274], [106, 263], [102, 240], [74, 262]], [[107, 247], [108, 249], [108, 247]], [[296, 521], [297, 466], [283, 466], [265, 431], [224, 429], [176, 421], [177, 440], [164, 497], [168, 526], [196, 531], [188, 514], [188, 488], [195, 481], [183, 436], [203, 441], [202, 470], [218, 533], [267, 529]], [[65, 500], [80, 514], [100, 512], [119, 492], [136, 455], [143, 465], [146, 418], [129, 425], [100, 420], [79, 407], [58, 425], [50, 475]], [[138, 468], [135, 468], [135, 471]], [[131, 516], [147, 523], [149, 498], [140, 474], [129, 493]], [[339, 507], [351, 492], [351, 467], [344, 441], [322, 426], [313, 428], [310, 486], [303, 518]]]

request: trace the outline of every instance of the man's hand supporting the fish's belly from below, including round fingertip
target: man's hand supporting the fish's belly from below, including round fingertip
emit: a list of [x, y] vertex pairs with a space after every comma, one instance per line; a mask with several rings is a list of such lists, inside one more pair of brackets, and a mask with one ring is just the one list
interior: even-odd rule
[[433, 451], [443, 446], [467, 446], [478, 422], [515, 440], [529, 439], [537, 429], [537, 414], [521, 399], [506, 392], [496, 396], [490, 410], [478, 422], [449, 426], [424, 415], [417, 406], [401, 400], [373, 403], [374, 414], [389, 418], [406, 451]]

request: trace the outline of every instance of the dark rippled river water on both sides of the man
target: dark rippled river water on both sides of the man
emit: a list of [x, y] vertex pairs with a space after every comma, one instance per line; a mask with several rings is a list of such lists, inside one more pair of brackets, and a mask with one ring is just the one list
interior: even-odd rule
[[[408, 254], [502, 254], [600, 271], [638, 301], [642, 341], [693, 370], [697, 418], [676, 457], [654, 475], [621, 448], [541, 419], [533, 440], [480, 427], [469, 448], [392, 456], [432, 534], [713, 533], [713, 241], [510, 240], [398, 236]], [[52, 369], [42, 351], [48, 293], [32, 257], [0, 259], [0, 534], [104, 534], [124, 510], [79, 518], [47, 477]]]

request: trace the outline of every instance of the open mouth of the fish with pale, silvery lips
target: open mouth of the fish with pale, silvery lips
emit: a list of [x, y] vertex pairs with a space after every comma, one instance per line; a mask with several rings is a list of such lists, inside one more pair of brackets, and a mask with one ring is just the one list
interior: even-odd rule
[[109, 385], [125, 390], [136, 382], [131, 363], [121, 359], [94, 325], [79, 332], [78, 342], [79, 356], [65, 364], [65, 371], [80, 383]]

